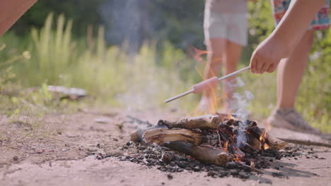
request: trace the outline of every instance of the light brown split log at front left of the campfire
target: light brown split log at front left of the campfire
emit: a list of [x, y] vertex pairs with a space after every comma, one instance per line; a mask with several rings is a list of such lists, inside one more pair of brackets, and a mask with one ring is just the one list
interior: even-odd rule
[[201, 144], [203, 141], [203, 135], [199, 132], [186, 129], [154, 129], [146, 130], [143, 135], [146, 142], [163, 144], [165, 142], [190, 142], [192, 144]]

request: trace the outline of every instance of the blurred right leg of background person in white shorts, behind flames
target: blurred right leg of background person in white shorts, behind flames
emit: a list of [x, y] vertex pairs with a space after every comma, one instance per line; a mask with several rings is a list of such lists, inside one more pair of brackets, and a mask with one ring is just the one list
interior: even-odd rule
[[[233, 73], [237, 69], [242, 50], [243, 46], [230, 41], [226, 42], [226, 74]], [[233, 93], [236, 92], [236, 89], [227, 86], [229, 83], [231, 84], [231, 82], [233, 82], [234, 78], [236, 77], [231, 77], [223, 83], [223, 90], [225, 92], [223, 99], [226, 101], [232, 99]], [[225, 109], [228, 110], [230, 108], [228, 108], [228, 105], [226, 105]]]

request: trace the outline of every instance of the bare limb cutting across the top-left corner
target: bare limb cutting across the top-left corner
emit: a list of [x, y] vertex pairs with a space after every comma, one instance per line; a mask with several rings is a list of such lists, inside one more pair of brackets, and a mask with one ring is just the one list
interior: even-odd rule
[[0, 1], [0, 37], [28, 10], [37, 0]]

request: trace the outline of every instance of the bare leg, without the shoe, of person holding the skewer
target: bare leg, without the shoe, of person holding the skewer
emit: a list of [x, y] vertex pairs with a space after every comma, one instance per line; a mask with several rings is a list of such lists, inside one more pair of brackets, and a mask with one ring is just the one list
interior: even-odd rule
[[294, 108], [296, 94], [313, 45], [314, 31], [308, 30], [289, 58], [281, 60], [277, 70], [277, 107]]

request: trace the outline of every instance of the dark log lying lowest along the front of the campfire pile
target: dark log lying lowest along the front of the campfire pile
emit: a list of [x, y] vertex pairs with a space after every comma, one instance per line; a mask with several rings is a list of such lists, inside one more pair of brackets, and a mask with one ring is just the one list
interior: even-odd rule
[[218, 166], [224, 166], [228, 161], [234, 159], [233, 155], [214, 147], [197, 146], [186, 142], [168, 142], [165, 143], [165, 146], [193, 156], [204, 163], [212, 163]]

